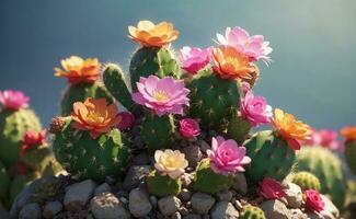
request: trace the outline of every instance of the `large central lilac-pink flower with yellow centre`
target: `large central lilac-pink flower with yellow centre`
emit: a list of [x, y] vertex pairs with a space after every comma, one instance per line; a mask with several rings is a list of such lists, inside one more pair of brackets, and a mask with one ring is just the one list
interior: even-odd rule
[[187, 97], [190, 90], [184, 88], [183, 80], [174, 80], [172, 77], [162, 79], [157, 76], [141, 77], [137, 82], [137, 89], [138, 92], [133, 94], [133, 100], [152, 110], [158, 116], [183, 115], [183, 106], [190, 104]]

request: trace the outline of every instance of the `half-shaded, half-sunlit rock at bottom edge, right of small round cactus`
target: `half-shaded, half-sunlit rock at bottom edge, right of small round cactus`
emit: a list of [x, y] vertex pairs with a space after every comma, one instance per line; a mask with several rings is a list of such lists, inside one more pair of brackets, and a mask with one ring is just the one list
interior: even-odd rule
[[290, 219], [289, 210], [280, 200], [266, 200], [260, 205], [266, 218]]

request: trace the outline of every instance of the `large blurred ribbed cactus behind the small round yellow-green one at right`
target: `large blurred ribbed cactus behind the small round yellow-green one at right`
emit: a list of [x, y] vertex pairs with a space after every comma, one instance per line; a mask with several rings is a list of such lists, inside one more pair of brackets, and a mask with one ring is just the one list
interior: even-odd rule
[[321, 183], [320, 192], [330, 195], [337, 207], [343, 207], [346, 180], [341, 160], [330, 150], [318, 146], [302, 148], [297, 157], [298, 171], [314, 174]]

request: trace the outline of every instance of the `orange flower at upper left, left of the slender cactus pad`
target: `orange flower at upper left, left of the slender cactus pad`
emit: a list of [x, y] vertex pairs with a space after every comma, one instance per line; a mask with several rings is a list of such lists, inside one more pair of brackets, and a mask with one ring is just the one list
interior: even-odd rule
[[55, 76], [66, 77], [70, 84], [93, 83], [100, 77], [100, 62], [96, 58], [85, 59], [78, 56], [61, 60], [64, 69], [55, 68]]

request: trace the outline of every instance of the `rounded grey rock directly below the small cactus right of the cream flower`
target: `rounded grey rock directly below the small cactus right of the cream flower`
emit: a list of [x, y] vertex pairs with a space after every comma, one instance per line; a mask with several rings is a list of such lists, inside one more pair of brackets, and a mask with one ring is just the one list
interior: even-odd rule
[[191, 199], [192, 208], [199, 215], [208, 214], [215, 204], [215, 198], [205, 193], [195, 193]]

